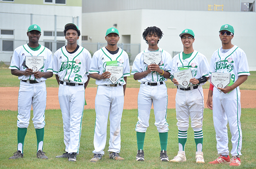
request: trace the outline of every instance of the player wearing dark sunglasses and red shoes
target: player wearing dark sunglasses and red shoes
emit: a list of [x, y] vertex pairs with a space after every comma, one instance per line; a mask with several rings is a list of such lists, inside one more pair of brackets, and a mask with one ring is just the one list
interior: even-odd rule
[[[221, 26], [219, 37], [222, 46], [212, 54], [210, 75], [211, 72], [230, 73], [232, 80], [230, 84], [233, 84], [225, 88], [218, 87], [221, 92], [216, 87], [213, 87], [212, 84], [210, 86], [207, 106], [212, 109], [217, 150], [220, 156], [209, 163], [230, 163], [230, 166], [240, 166], [242, 131], [239, 85], [244, 83], [248, 75], [250, 75], [249, 66], [244, 51], [231, 43], [234, 37], [233, 26], [228, 24]], [[228, 150], [227, 123], [229, 123], [232, 135], [231, 159]]]

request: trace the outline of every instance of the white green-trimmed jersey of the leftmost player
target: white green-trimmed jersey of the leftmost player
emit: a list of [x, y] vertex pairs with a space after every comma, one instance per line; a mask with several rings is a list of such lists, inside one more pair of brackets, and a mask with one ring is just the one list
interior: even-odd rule
[[[21, 71], [25, 71], [27, 68], [24, 65], [24, 61], [26, 56], [43, 56], [44, 57], [44, 66], [39, 69], [40, 72], [52, 72], [52, 52], [44, 47], [41, 46], [40, 49], [37, 51], [33, 51], [29, 48], [28, 44], [25, 44], [23, 46], [19, 46], [15, 49], [12, 55], [12, 61], [10, 64], [9, 69], [17, 69]], [[41, 78], [35, 78], [35, 76], [32, 74], [30, 76], [19, 76], [19, 80], [36, 80], [37, 82], [45, 81], [47, 78], [41, 77]]]

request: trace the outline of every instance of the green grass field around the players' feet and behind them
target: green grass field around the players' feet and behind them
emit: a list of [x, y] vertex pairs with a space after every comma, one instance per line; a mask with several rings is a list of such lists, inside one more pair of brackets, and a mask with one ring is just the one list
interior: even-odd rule
[[[247, 81], [240, 86], [240, 89], [256, 90], [256, 72], [250, 72], [251, 75]], [[0, 68], [0, 87], [19, 86], [17, 77], [10, 73], [9, 69]], [[133, 77], [128, 77], [127, 87], [139, 87], [140, 83], [135, 81]], [[47, 87], [58, 87], [55, 77], [47, 80]], [[91, 79], [88, 87], [96, 87], [95, 80]], [[175, 88], [172, 82], [168, 80], [168, 88]], [[209, 88], [209, 83], [204, 85], [204, 88]], [[243, 132], [243, 148], [241, 156], [241, 166], [238, 169], [256, 169], [256, 109], [242, 109], [241, 127]], [[31, 112], [31, 117], [33, 116]], [[32, 119], [32, 118], [31, 118]], [[0, 169], [68, 169], [68, 168], [83, 168], [83, 169], [230, 169], [229, 165], [210, 165], [207, 164], [211, 160], [218, 157], [216, 150], [215, 130], [212, 121], [212, 111], [204, 110], [204, 159], [205, 164], [195, 163], [195, 141], [191, 127], [188, 130], [188, 140], [186, 142], [186, 158], [184, 163], [164, 163], [160, 162], [160, 140], [156, 127], [154, 126], [154, 112], [151, 110], [151, 117], [145, 136], [144, 151], [145, 161], [138, 162], [135, 160], [137, 154], [137, 139], [135, 132], [135, 124], [137, 122], [137, 109], [124, 110], [121, 123], [121, 157], [124, 161], [114, 161], [108, 159], [108, 140], [105, 147], [106, 155], [98, 163], [91, 163], [93, 157], [93, 134], [95, 124], [95, 110], [84, 110], [83, 127], [80, 141], [80, 152], [77, 156], [77, 162], [68, 162], [67, 159], [56, 159], [56, 155], [61, 155], [65, 149], [63, 142], [63, 122], [60, 110], [46, 110], [45, 113], [45, 135], [44, 135], [44, 152], [48, 156], [48, 160], [36, 158], [37, 141], [35, 129], [30, 120], [30, 125], [24, 143], [24, 158], [17, 160], [8, 160], [9, 157], [17, 149], [17, 111], [0, 111]], [[177, 138], [177, 120], [175, 109], [168, 109], [167, 122], [169, 123], [169, 137], [167, 154], [172, 159], [177, 155], [178, 138]], [[108, 124], [109, 126], [109, 124]], [[229, 132], [229, 148], [231, 135]]]

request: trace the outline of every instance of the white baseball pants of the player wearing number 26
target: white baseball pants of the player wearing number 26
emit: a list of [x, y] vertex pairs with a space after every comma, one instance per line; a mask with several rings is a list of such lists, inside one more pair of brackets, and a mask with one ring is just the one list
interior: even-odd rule
[[67, 86], [65, 84], [60, 84], [58, 90], [63, 118], [65, 151], [79, 153], [84, 113], [84, 86]]

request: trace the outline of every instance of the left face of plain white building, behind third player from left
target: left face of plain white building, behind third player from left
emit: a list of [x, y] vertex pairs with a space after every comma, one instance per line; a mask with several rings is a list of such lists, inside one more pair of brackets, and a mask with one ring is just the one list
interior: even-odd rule
[[140, 43], [141, 15], [142, 10], [85, 13], [82, 15], [83, 36], [88, 36], [87, 43], [105, 43], [107, 29], [117, 24], [116, 29], [120, 34], [119, 42], [122, 42], [121, 35], [132, 34], [131, 43]]

